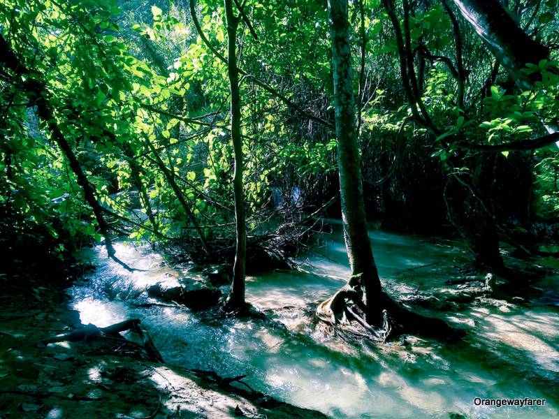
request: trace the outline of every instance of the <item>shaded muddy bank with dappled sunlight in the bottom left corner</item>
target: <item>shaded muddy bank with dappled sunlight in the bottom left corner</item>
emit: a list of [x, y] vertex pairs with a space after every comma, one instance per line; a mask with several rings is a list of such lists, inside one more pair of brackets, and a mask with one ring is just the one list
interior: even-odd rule
[[110, 339], [40, 344], [84, 326], [64, 291], [3, 295], [1, 307], [2, 419], [326, 418], [254, 392], [242, 378], [150, 362]]

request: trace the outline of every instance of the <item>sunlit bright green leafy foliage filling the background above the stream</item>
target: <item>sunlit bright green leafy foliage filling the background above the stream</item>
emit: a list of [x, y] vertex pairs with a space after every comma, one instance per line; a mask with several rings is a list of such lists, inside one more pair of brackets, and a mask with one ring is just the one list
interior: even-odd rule
[[[554, 2], [541, 7], [518, 3], [525, 12], [519, 15], [523, 27], [532, 28], [542, 43], [556, 44]], [[248, 74], [240, 87], [246, 200], [249, 222], [254, 224], [270, 205], [271, 187], [300, 186], [312, 196], [318, 186], [331, 182], [336, 143], [331, 128], [300, 112], [333, 121], [326, 1], [243, 4], [254, 29], [253, 34], [243, 22], [239, 47], [239, 66]], [[395, 2], [400, 30], [409, 29], [419, 98], [437, 128], [433, 133], [409, 122], [413, 115], [402, 89], [398, 47], [382, 2], [363, 0], [363, 16], [358, 1], [351, 3], [365, 174], [377, 173], [377, 166], [372, 166], [376, 161], [395, 161], [406, 150], [417, 150], [418, 139], [424, 142], [423, 151], [414, 157], [418, 164], [444, 175], [445, 170], [460, 167], [459, 162], [448, 163], [458, 156], [454, 140], [500, 144], [543, 135], [542, 122], [558, 125], [556, 51], [550, 60], [528, 64], [525, 73], [541, 74], [541, 80], [532, 89], [519, 91], [501, 69], [491, 76], [495, 59], [463, 20], [459, 27], [467, 78], [462, 93], [465, 109], [460, 109], [456, 34], [441, 4], [414, 5], [406, 26], [402, 3]], [[226, 56], [222, 2], [201, 0], [195, 10], [205, 38]], [[151, 145], [180, 185], [205, 234], [231, 235], [233, 157], [226, 65], [198, 34], [189, 2], [6, 0], [0, 6], [0, 28], [17, 57], [48, 89], [57, 124], [99, 201], [112, 212], [106, 214], [108, 219], [115, 226], [123, 217], [131, 221], [115, 228], [115, 233], [133, 240], [194, 235]], [[74, 175], [38, 121], [33, 103], [19, 87], [21, 81], [11, 80], [8, 71], [0, 75], [3, 207], [21, 214], [26, 223], [45, 225], [52, 235], [63, 229], [99, 240]], [[553, 147], [535, 151], [533, 160], [535, 202], [538, 214], [546, 217], [558, 210]], [[386, 175], [390, 168], [382, 170], [377, 175]], [[378, 180], [367, 177], [365, 182]], [[149, 205], [143, 202], [141, 189]]]

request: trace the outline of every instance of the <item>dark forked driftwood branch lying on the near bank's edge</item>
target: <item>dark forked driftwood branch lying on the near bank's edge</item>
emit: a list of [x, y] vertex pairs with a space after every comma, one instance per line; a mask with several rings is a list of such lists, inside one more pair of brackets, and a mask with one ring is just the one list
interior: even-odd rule
[[[124, 339], [120, 335], [120, 332], [126, 330], [131, 330], [135, 332], [141, 340], [141, 344], [136, 344], [129, 339]], [[138, 346], [142, 349], [147, 357], [154, 362], [164, 362], [161, 353], [155, 347], [152, 338], [147, 333], [147, 331], [140, 326], [140, 319], [131, 318], [129, 320], [122, 321], [120, 323], [115, 323], [114, 325], [107, 326], [106, 328], [98, 328], [96, 325], [86, 325], [84, 328], [75, 330], [74, 332], [65, 333], [64, 335], [57, 335], [55, 337], [50, 337], [41, 341], [41, 344], [48, 345], [56, 342], [62, 341], [87, 341], [88, 339], [114, 339], [121, 342], [122, 344], [131, 344]]]

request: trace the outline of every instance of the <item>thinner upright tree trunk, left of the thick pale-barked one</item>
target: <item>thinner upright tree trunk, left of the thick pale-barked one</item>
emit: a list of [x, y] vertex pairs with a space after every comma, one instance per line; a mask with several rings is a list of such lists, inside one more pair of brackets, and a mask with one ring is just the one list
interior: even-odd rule
[[228, 297], [229, 307], [245, 304], [245, 270], [247, 261], [247, 226], [245, 197], [242, 187], [243, 155], [240, 115], [239, 70], [237, 67], [237, 27], [239, 17], [233, 13], [233, 0], [224, 0], [227, 24], [227, 73], [231, 87], [231, 141], [235, 155], [233, 196], [235, 198], [236, 245], [233, 265], [233, 285]]

